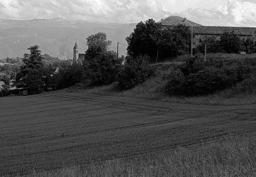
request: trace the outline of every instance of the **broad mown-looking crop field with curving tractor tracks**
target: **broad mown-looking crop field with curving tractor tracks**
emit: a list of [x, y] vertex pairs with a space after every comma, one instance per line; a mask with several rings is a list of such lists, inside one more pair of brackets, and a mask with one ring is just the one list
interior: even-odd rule
[[0, 176], [134, 158], [256, 131], [256, 105], [48, 93], [0, 98]]

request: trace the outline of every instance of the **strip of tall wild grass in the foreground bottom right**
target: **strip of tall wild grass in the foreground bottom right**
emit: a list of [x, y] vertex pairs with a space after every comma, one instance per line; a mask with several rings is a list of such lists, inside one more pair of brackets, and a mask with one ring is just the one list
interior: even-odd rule
[[134, 159], [115, 159], [54, 172], [33, 172], [29, 177], [256, 176], [255, 142], [254, 137], [225, 138]]

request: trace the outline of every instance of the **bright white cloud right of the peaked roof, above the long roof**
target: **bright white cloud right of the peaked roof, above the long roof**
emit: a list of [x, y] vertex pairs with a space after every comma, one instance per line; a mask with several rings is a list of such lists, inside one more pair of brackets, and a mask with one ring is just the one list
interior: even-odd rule
[[212, 9], [188, 9], [175, 13], [202, 25], [256, 27], [256, 2], [228, 0]]

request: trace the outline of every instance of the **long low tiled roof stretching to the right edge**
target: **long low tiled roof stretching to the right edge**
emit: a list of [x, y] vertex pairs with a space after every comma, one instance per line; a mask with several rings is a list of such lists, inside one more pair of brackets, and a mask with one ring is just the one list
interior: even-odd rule
[[194, 34], [198, 35], [221, 35], [226, 31], [234, 31], [236, 35], [241, 36], [253, 36], [255, 35], [256, 28], [248, 27], [210, 27], [210, 26], [201, 26], [194, 27]]

